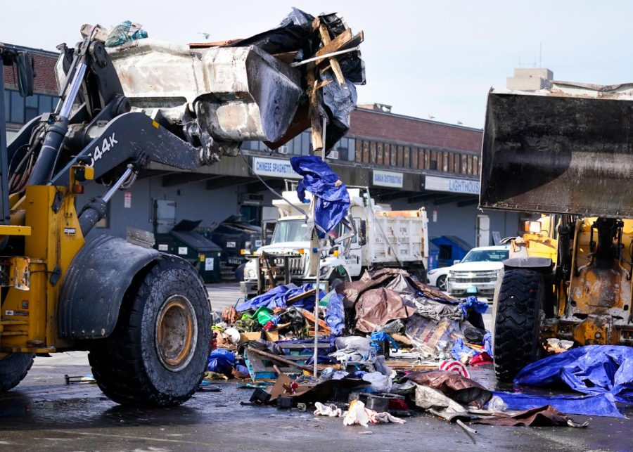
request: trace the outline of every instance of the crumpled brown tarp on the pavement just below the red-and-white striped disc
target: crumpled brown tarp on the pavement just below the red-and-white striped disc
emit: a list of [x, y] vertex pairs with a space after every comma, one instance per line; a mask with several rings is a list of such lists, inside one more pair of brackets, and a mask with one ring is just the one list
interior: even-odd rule
[[401, 382], [407, 380], [437, 389], [462, 405], [482, 408], [492, 399], [492, 392], [478, 382], [449, 370], [430, 370], [428, 372], [418, 370], [408, 373]]

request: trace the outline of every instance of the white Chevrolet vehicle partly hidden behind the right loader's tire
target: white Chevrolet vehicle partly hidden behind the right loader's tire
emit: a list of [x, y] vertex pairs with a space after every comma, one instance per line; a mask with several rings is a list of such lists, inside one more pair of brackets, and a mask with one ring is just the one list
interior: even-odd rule
[[477, 247], [470, 250], [459, 264], [450, 268], [446, 291], [451, 297], [471, 295], [485, 297], [492, 302], [497, 277], [508, 259], [510, 245]]

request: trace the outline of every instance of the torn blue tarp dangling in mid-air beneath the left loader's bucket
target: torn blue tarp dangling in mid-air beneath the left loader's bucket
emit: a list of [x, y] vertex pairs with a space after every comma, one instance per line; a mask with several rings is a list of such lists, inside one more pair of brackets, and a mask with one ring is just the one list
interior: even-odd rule
[[[347, 186], [340, 182], [338, 174], [316, 155], [292, 157], [290, 164], [295, 172], [303, 176], [297, 186], [301, 202], [305, 202], [305, 191], [316, 197], [314, 204], [314, 222], [326, 233], [332, 231], [347, 216], [350, 208], [350, 195]], [[317, 230], [319, 238], [325, 234]]]

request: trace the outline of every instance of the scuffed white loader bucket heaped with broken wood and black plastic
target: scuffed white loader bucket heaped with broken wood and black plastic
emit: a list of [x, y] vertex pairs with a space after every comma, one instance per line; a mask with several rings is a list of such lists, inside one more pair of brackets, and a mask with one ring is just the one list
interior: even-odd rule
[[350, 127], [354, 84], [365, 83], [363, 32], [334, 13], [293, 8], [272, 30], [188, 46], [130, 21], [82, 32], [106, 42], [133, 110], [200, 148], [203, 164], [237, 155], [242, 141], [279, 148], [306, 129], [315, 151], [330, 150]]

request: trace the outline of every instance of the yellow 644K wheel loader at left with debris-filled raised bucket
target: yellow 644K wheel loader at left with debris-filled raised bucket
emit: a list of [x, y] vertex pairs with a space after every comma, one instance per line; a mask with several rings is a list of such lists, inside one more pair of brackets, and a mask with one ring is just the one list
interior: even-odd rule
[[[345, 85], [351, 96], [345, 76], [355, 67], [350, 77], [361, 82], [364, 66], [357, 47], [343, 56], [355, 65], [328, 57], [353, 38], [338, 16], [298, 10], [270, 32], [202, 49], [125, 33], [106, 47], [108, 32], [91, 25], [82, 35], [75, 48], [58, 47], [55, 110], [8, 146], [0, 65], [0, 392], [18, 385], [35, 354], [88, 350], [113, 401], [173, 406], [196, 392], [207, 364], [203, 281], [184, 259], [155, 250], [151, 233], [87, 235], [151, 162], [196, 169], [238, 155], [243, 140], [276, 148], [311, 122], [331, 122], [321, 91]], [[293, 67], [319, 51], [321, 61]], [[0, 54], [18, 65], [20, 93], [32, 93], [28, 54], [1, 45]], [[327, 129], [321, 148], [345, 133]], [[87, 200], [91, 181], [108, 188]]]

